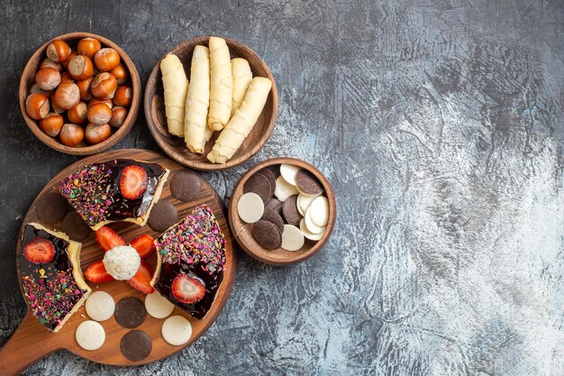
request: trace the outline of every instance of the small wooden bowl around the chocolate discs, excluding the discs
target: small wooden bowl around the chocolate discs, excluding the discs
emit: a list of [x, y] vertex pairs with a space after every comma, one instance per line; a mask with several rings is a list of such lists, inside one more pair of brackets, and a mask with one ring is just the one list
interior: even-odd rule
[[[308, 170], [314, 174], [314, 176], [319, 179], [322, 183], [325, 191], [323, 194], [329, 200], [329, 221], [327, 222], [327, 228], [323, 237], [317, 242], [305, 239], [304, 246], [297, 250], [296, 252], [289, 252], [278, 248], [277, 250], [269, 251], [262, 248], [259, 243], [257, 243], [251, 234], [252, 224], [247, 224], [241, 220], [239, 213], [237, 211], [237, 203], [239, 198], [243, 195], [243, 185], [253, 175], [255, 172], [264, 169], [265, 167], [277, 165], [277, 164], [292, 164], [302, 169]], [[245, 172], [241, 179], [233, 188], [232, 197], [229, 201], [229, 225], [232, 230], [232, 234], [237, 240], [237, 243], [241, 245], [242, 249], [245, 250], [251, 257], [266, 262], [271, 265], [290, 265], [296, 262], [304, 261], [312, 257], [315, 253], [319, 252], [325, 243], [329, 240], [332, 234], [333, 227], [335, 225], [335, 219], [337, 217], [337, 203], [335, 201], [335, 194], [333, 192], [332, 186], [329, 181], [323, 176], [323, 174], [314, 168], [311, 164], [305, 162], [304, 160], [297, 160], [296, 158], [275, 158], [272, 160], [264, 160], [259, 164], [252, 167], [250, 170]]]

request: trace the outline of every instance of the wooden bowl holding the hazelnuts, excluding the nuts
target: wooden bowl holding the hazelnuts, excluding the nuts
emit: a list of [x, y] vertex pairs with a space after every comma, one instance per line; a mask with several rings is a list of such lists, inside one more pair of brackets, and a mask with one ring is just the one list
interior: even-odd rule
[[[41, 60], [46, 58], [45, 51], [47, 50], [50, 42], [59, 39], [66, 41], [69, 46], [74, 48], [76, 47], [77, 42], [83, 38], [96, 38], [102, 43], [103, 47], [111, 47], [120, 54], [120, 59], [129, 70], [130, 79], [132, 81], [133, 97], [132, 105], [129, 108], [129, 112], [127, 114], [127, 117], [125, 118], [125, 121], [123, 122], [123, 125], [107, 140], [91, 146], [70, 147], [63, 145], [57, 138], [53, 138], [49, 134], [41, 131], [41, 128], [39, 127], [39, 121], [34, 120], [29, 115], [27, 115], [27, 111], [25, 110], [25, 99], [29, 95], [30, 87], [32, 87], [32, 85], [35, 83], [35, 72], [37, 71], [37, 68], [41, 63]], [[45, 143], [51, 149], [55, 149], [56, 151], [64, 152], [66, 154], [90, 155], [111, 148], [117, 142], [120, 142], [123, 137], [125, 137], [125, 135], [132, 129], [132, 126], [137, 119], [137, 115], [139, 115], [139, 108], [141, 105], [141, 79], [139, 78], [139, 73], [137, 73], [137, 69], [135, 69], [132, 60], [113, 41], [110, 41], [103, 36], [92, 34], [90, 32], [70, 32], [68, 34], [60, 35], [59, 37], [47, 41], [39, 48], [39, 50], [35, 51], [35, 53], [32, 55], [32, 58], [27, 62], [25, 69], [23, 69], [22, 79], [20, 80], [19, 97], [23, 119], [25, 119], [27, 126], [30, 127], [32, 132], [37, 136], [37, 138], [41, 140], [41, 142]]]

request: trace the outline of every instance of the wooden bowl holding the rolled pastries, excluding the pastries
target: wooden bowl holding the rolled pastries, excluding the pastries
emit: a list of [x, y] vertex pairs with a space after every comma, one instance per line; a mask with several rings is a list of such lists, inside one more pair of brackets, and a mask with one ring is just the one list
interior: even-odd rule
[[[190, 64], [192, 61], [192, 51], [198, 44], [208, 45], [210, 37], [197, 37], [184, 41], [169, 50], [168, 53], [174, 53], [182, 61], [186, 71], [186, 77], [190, 78]], [[253, 50], [241, 44], [238, 41], [232, 41], [225, 38], [227, 46], [231, 52], [232, 58], [244, 58], [249, 61], [250, 70], [253, 77], [266, 77], [272, 81], [272, 89], [268, 94], [267, 103], [259, 116], [257, 124], [252, 128], [249, 135], [242, 143], [238, 151], [235, 152], [231, 160], [227, 160], [224, 164], [215, 164], [205, 158], [207, 153], [212, 150], [215, 139], [219, 132], [214, 133], [212, 139], [206, 143], [204, 154], [190, 152], [186, 147], [186, 143], [182, 138], [173, 136], [168, 133], [167, 117], [165, 115], [165, 104], [163, 98], [162, 75], [160, 74], [160, 60], [155, 64], [150, 73], [147, 86], [145, 87], [145, 117], [149, 125], [150, 133], [153, 135], [160, 148], [165, 151], [170, 158], [177, 160], [187, 167], [196, 170], [225, 170], [233, 166], [241, 164], [245, 160], [255, 155], [262, 145], [268, 141], [268, 137], [274, 129], [278, 114], [278, 93], [276, 83], [268, 69], [267, 64], [259, 58]], [[167, 54], [162, 58], [164, 59]]]

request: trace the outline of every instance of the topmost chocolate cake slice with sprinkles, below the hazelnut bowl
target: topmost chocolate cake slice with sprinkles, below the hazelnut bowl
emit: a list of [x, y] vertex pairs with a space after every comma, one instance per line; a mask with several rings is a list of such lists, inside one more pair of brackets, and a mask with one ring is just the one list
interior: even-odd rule
[[157, 163], [108, 160], [75, 171], [59, 191], [95, 231], [110, 222], [145, 225], [167, 177]]

